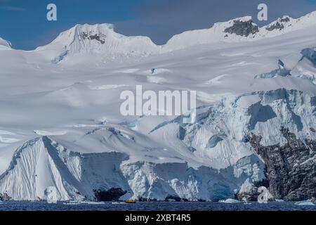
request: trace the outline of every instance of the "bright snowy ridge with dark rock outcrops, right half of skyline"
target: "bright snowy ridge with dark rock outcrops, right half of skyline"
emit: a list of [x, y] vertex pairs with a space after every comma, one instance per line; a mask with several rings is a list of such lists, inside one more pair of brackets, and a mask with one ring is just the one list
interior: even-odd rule
[[264, 27], [258, 27], [251, 16], [235, 18], [228, 22], [216, 23], [204, 30], [192, 30], [175, 35], [166, 44], [166, 49], [184, 49], [187, 46], [211, 44], [218, 41], [255, 41], [275, 37], [287, 32], [316, 25], [316, 12], [294, 19], [283, 16]]

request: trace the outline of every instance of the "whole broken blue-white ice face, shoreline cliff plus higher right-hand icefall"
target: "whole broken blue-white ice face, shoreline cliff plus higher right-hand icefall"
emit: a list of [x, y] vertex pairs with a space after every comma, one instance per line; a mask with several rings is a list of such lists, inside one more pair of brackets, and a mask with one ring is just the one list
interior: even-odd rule
[[[243, 98], [249, 96], [258, 96], [260, 101], [244, 108], [241, 106]], [[176, 126], [179, 133], [175, 138], [183, 141], [187, 151], [195, 149], [192, 158], [193, 155], [207, 158], [211, 167], [193, 168], [187, 162], [129, 161], [128, 154], [131, 153], [127, 152], [76, 153], [44, 136], [27, 141], [15, 151], [9, 168], [0, 177], [0, 193], [6, 193], [14, 200], [43, 200], [46, 188], [53, 186], [58, 200], [223, 200], [234, 198], [237, 191], [239, 194], [251, 191], [258, 182], [267, 179], [261, 159], [263, 153], [256, 155], [251, 151], [250, 136], [261, 136], [259, 143], [262, 146], [275, 143], [283, 146], [282, 129], [286, 127], [301, 140], [316, 140], [315, 130], [312, 130], [316, 124], [315, 99], [301, 91], [259, 91], [238, 96], [228, 103], [230, 106], [224, 105], [220, 103], [207, 108], [196, 124]], [[238, 120], [240, 124], [237, 124]], [[177, 123], [177, 120], [173, 122]], [[153, 132], [159, 132], [165, 126], [171, 124], [166, 123]], [[171, 130], [170, 127], [166, 129], [167, 132]], [[86, 135], [98, 131], [93, 129]], [[131, 136], [123, 135], [119, 129], [111, 127], [106, 131], [115, 139], [131, 140]], [[113, 141], [110, 136], [107, 140]], [[148, 151], [159, 151], [159, 148]], [[121, 193], [110, 195], [108, 192], [113, 188]], [[96, 193], [103, 193], [103, 197]]]

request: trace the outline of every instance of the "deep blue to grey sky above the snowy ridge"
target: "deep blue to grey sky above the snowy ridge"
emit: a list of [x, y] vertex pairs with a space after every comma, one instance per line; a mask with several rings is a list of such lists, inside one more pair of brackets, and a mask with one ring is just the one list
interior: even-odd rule
[[[46, 6], [58, 7], [58, 21], [46, 20]], [[126, 35], [145, 35], [164, 44], [185, 30], [208, 28], [244, 15], [256, 20], [259, 3], [268, 5], [269, 22], [316, 11], [316, 0], [0, 0], [0, 37], [15, 49], [35, 49], [76, 24], [113, 23]]]

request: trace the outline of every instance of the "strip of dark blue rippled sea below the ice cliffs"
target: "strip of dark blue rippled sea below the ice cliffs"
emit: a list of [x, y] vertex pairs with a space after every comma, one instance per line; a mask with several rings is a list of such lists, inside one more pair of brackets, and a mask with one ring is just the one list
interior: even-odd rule
[[294, 203], [135, 203], [102, 205], [63, 203], [0, 203], [0, 211], [316, 211], [315, 206], [294, 205]]

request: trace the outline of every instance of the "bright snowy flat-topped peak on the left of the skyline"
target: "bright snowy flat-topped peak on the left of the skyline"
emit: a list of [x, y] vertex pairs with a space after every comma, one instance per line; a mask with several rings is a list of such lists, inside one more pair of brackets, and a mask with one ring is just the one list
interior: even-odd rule
[[111, 57], [140, 57], [157, 53], [159, 47], [148, 37], [126, 37], [114, 32], [111, 24], [76, 25], [62, 32], [51, 44], [39, 47], [37, 51], [57, 53], [53, 63], [66, 56], [96, 53]]

